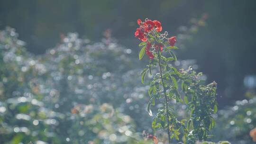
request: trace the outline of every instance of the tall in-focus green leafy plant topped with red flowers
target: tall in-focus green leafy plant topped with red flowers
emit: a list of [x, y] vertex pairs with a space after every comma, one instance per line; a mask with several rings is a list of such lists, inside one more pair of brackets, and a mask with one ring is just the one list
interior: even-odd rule
[[[141, 60], [146, 53], [149, 64], [141, 72], [141, 82], [145, 83], [146, 73], [152, 69], [159, 69], [150, 82], [148, 95], [150, 101], [147, 111], [153, 116], [151, 106], [156, 102], [164, 106], [158, 108], [152, 122], [152, 128], [166, 129], [168, 134], [168, 144], [171, 139], [183, 140], [185, 144], [194, 144], [197, 140], [206, 140], [211, 135], [209, 131], [215, 126], [215, 120], [211, 116], [217, 112], [216, 82], [204, 85], [201, 79], [202, 73], [196, 73], [190, 67], [188, 70], [178, 71], [171, 62], [177, 61], [173, 50], [176, 36], [167, 37], [168, 33], [161, 33], [162, 25], [157, 20], [141, 19], [137, 20], [139, 27], [135, 32], [142, 42], [139, 52]], [[168, 55], [167, 55], [167, 54]], [[179, 118], [172, 103], [182, 103], [186, 105], [190, 112], [190, 117]]]

